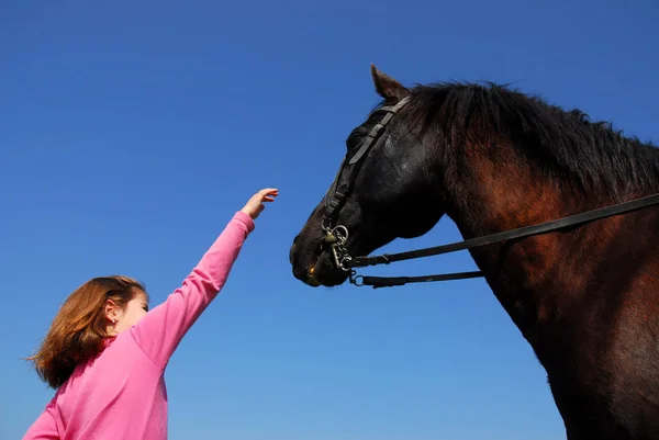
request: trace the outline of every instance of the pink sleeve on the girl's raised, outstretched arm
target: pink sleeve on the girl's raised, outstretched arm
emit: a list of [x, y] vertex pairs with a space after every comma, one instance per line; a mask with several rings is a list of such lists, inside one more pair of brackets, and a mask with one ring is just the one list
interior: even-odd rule
[[180, 287], [149, 311], [131, 332], [152, 361], [164, 369], [186, 332], [224, 286], [254, 221], [238, 211]]

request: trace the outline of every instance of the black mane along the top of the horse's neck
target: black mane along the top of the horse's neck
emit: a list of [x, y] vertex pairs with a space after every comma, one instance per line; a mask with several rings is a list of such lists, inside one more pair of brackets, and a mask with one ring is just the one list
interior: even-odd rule
[[487, 82], [443, 82], [411, 89], [412, 117], [445, 137], [451, 148], [469, 140], [496, 143], [502, 135], [538, 171], [582, 190], [616, 196], [659, 183], [659, 150], [625, 137], [611, 123], [591, 122], [539, 97]]

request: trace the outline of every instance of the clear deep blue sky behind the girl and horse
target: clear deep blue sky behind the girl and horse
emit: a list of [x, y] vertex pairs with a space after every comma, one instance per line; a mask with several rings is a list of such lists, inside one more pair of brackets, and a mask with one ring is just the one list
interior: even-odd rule
[[[313, 290], [288, 249], [378, 102], [371, 61], [406, 84], [517, 81], [659, 139], [658, 19], [650, 0], [2, 0], [0, 438], [53, 394], [21, 358], [68, 293], [124, 273], [161, 302], [270, 185], [168, 368], [171, 439], [563, 438], [482, 280]], [[445, 218], [384, 250], [458, 239]], [[459, 253], [368, 272], [473, 268]]]

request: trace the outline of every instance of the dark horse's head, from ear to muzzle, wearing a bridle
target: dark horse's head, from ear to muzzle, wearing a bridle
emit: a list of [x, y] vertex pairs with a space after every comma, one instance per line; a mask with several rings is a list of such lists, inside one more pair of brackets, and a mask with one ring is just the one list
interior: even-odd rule
[[294, 277], [309, 285], [345, 282], [346, 257], [423, 235], [444, 214], [434, 149], [409, 117], [411, 91], [375, 66], [371, 74], [384, 101], [348, 136], [334, 183], [290, 250]]

